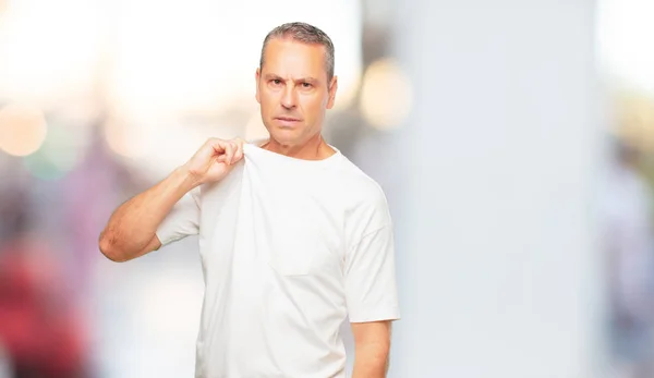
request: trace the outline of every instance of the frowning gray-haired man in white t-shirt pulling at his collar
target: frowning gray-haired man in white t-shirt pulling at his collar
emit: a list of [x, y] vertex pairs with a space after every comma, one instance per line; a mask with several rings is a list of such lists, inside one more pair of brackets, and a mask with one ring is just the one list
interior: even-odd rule
[[334, 45], [290, 23], [264, 40], [265, 143], [211, 138], [111, 216], [100, 249], [125, 261], [199, 234], [205, 296], [196, 377], [385, 377], [399, 319], [392, 224], [379, 186], [322, 138]]

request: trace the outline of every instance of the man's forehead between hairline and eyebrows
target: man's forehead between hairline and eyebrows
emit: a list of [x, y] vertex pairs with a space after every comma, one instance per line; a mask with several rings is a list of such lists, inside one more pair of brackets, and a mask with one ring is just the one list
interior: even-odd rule
[[327, 74], [323, 45], [274, 38], [266, 46], [264, 54], [264, 73], [301, 77], [324, 77]]

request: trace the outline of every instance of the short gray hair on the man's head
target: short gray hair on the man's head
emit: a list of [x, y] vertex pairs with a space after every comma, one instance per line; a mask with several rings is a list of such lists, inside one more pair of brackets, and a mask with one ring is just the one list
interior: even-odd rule
[[323, 45], [325, 47], [325, 70], [327, 71], [327, 80], [331, 81], [334, 77], [334, 44], [331, 42], [331, 38], [329, 38], [325, 32], [303, 22], [291, 22], [277, 26], [270, 31], [266, 36], [266, 39], [264, 39], [259, 59], [259, 69], [263, 69], [264, 66], [266, 46], [268, 46], [270, 39], [274, 38], [289, 38], [307, 45]]

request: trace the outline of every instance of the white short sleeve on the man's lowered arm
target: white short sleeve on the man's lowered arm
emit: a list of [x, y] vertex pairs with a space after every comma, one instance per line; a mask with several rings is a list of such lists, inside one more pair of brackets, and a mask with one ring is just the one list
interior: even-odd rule
[[352, 246], [344, 272], [351, 322], [400, 318], [391, 224], [366, 233]]

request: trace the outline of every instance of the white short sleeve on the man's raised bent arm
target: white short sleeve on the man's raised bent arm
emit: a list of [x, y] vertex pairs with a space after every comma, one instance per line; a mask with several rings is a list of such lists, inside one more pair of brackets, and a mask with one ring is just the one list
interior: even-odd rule
[[157, 229], [161, 245], [170, 244], [199, 231], [199, 186], [186, 193], [164, 218]]

